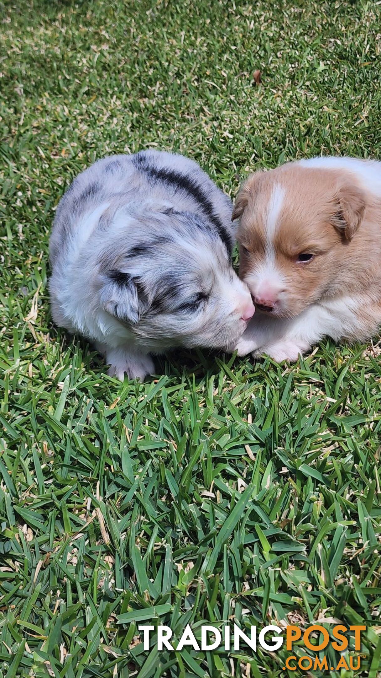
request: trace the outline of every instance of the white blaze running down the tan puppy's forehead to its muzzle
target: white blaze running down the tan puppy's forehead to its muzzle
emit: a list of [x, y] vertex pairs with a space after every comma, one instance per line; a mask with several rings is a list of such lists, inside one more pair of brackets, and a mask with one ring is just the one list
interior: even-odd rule
[[282, 273], [277, 270], [274, 246], [284, 195], [284, 188], [275, 184], [265, 215], [265, 257], [256, 271], [248, 273], [245, 278], [253, 296], [271, 298], [284, 287]]

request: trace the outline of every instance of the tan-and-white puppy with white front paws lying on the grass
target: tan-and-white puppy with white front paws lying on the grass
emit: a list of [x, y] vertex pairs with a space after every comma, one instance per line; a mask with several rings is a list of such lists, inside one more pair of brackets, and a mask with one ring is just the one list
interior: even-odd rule
[[238, 355], [298, 358], [323, 336], [365, 341], [381, 324], [381, 163], [320, 157], [242, 186], [240, 277], [255, 317]]

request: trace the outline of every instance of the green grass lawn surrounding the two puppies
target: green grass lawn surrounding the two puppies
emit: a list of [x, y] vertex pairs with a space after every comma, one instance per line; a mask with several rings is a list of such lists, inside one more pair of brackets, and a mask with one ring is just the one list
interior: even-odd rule
[[380, 158], [380, 3], [18, 0], [0, 18], [0, 677], [283, 678], [284, 647], [148, 653], [137, 620], [180, 637], [335, 618], [366, 625], [365, 658], [328, 673], [376, 678], [378, 344], [291, 367], [177, 353], [120, 384], [51, 324], [47, 246], [65, 186], [110, 153], [187, 153], [231, 195], [254, 167]]

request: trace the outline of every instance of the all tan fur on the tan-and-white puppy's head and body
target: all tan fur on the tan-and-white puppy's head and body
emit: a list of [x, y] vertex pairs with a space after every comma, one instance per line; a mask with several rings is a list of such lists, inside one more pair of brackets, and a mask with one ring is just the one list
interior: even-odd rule
[[[349, 169], [288, 163], [252, 175], [233, 212], [233, 218], [240, 216], [240, 277], [250, 287], [267, 261], [275, 187], [283, 199], [271, 247], [282, 290], [269, 318], [296, 318], [312, 304], [334, 308], [339, 300], [344, 307], [349, 304], [355, 323], [342, 324], [337, 336], [334, 330], [330, 336], [364, 340], [374, 335], [381, 324], [381, 195], [369, 193]], [[298, 261], [302, 253], [314, 257], [303, 263]]]

